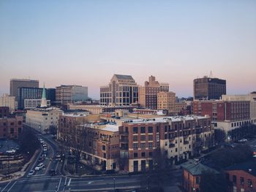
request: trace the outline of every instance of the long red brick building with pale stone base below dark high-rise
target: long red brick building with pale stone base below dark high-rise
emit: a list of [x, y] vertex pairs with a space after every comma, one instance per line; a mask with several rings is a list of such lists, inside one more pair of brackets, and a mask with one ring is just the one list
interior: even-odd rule
[[230, 131], [251, 123], [250, 101], [193, 101], [194, 115], [209, 115], [214, 127]]

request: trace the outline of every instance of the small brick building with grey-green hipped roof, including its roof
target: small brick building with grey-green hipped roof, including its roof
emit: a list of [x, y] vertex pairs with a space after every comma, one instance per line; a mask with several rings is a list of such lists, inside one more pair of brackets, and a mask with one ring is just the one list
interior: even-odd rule
[[181, 167], [183, 168], [183, 188], [186, 192], [200, 192], [200, 180], [203, 172], [219, 174], [215, 169], [198, 162], [187, 162]]

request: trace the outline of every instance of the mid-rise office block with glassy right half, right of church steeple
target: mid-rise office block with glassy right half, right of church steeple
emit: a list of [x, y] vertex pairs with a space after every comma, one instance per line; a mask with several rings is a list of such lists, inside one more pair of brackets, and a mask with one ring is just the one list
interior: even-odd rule
[[88, 87], [80, 85], [61, 85], [56, 87], [56, 101], [61, 104], [86, 101], [88, 99]]

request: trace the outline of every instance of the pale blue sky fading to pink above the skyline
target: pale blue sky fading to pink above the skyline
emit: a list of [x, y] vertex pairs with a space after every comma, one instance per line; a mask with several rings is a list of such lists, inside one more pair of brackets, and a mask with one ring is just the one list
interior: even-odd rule
[[255, 0], [0, 1], [0, 94], [11, 78], [99, 86], [150, 75], [176, 96], [213, 72], [228, 94], [256, 91]]

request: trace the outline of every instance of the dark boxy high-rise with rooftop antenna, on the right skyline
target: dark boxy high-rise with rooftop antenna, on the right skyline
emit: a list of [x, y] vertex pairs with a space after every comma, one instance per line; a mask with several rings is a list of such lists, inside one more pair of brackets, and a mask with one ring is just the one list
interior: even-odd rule
[[226, 94], [226, 80], [203, 77], [194, 80], [194, 100], [219, 99]]

